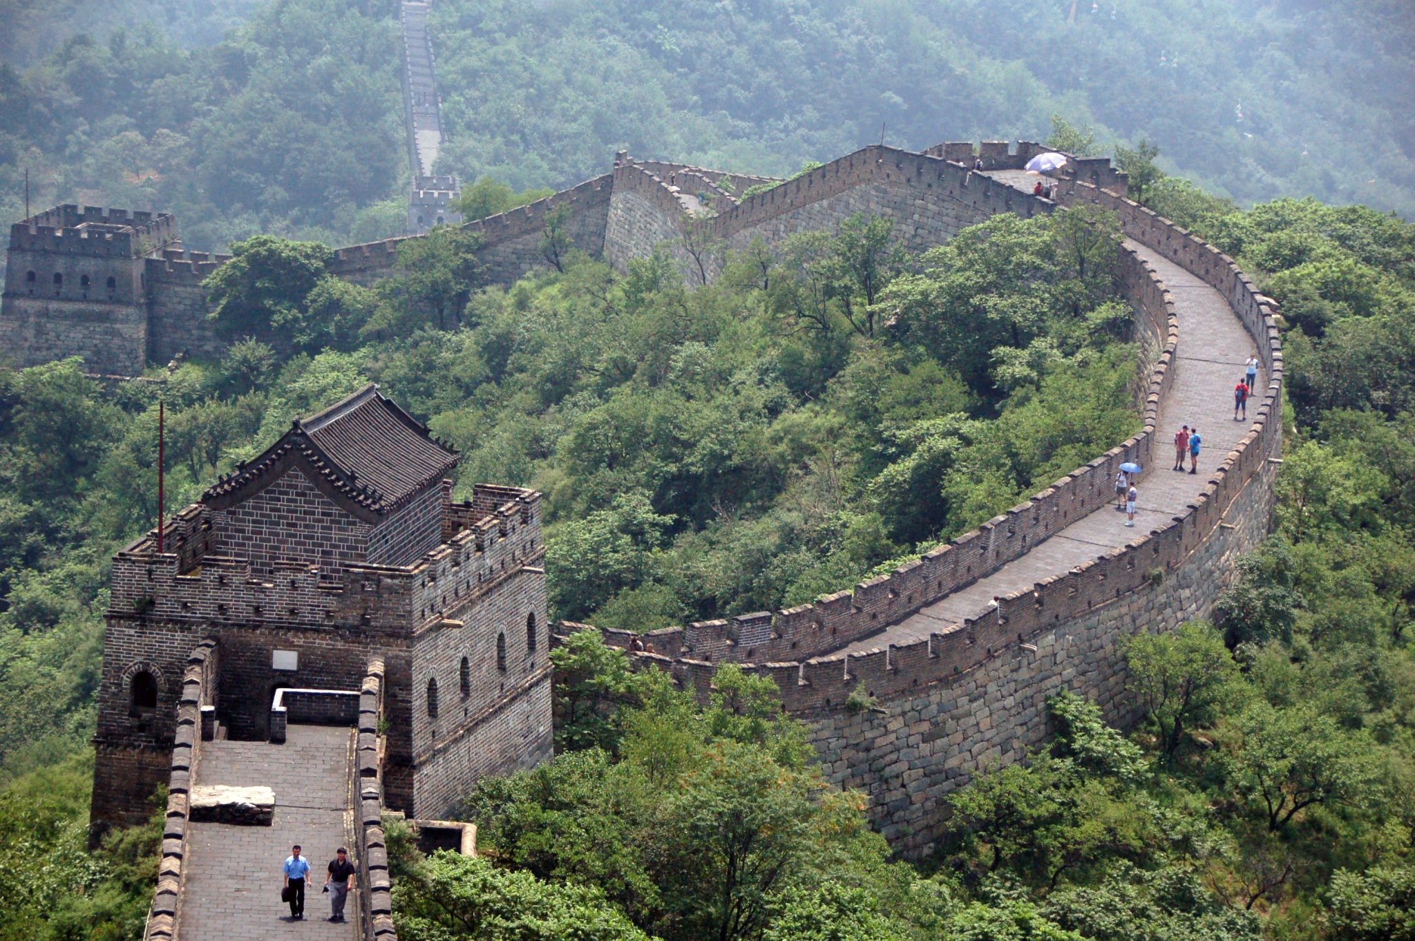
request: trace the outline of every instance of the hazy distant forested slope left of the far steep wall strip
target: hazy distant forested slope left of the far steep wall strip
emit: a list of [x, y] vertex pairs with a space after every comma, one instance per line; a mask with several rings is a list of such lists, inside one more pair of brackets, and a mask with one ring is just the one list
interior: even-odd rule
[[406, 202], [383, 202], [406, 174], [400, 62], [372, 0], [263, 6], [212, 47], [116, 28], [24, 71], [3, 61], [0, 211], [23, 217], [28, 167], [34, 208], [174, 212], [191, 248], [400, 233]]

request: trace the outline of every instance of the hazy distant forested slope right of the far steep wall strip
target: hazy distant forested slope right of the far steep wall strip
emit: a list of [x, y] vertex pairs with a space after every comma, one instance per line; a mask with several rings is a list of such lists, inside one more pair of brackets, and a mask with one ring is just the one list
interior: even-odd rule
[[572, 184], [620, 144], [788, 173], [882, 125], [923, 149], [1041, 140], [1060, 113], [1240, 201], [1415, 211], [1402, 0], [441, 0], [433, 23], [443, 167], [468, 180]]

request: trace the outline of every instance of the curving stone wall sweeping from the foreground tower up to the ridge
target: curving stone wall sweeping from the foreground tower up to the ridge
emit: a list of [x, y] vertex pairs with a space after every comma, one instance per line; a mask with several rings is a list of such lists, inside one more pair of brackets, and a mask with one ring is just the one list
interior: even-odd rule
[[[1101, 177], [1115, 180], [1114, 173]], [[604, 246], [613, 263], [623, 266], [665, 241], [682, 252], [678, 233], [691, 208], [676, 187], [623, 160], [611, 192]], [[828, 777], [869, 797], [872, 819], [904, 855], [928, 849], [942, 824], [944, 798], [975, 770], [1017, 761], [1046, 739], [1046, 699], [1056, 692], [1073, 689], [1098, 702], [1112, 722], [1132, 722], [1122, 641], [1207, 617], [1237, 555], [1268, 532], [1283, 378], [1272, 301], [1232, 259], [1114, 191], [1070, 178], [1058, 187], [1057, 202], [1102, 205], [1121, 221], [1126, 248], [1119, 282], [1136, 310], [1139, 335], [1157, 351], [1140, 433], [889, 576], [814, 604], [652, 631], [645, 640], [658, 652], [631, 654], [702, 698], [722, 662], [770, 676], [785, 709], [809, 724]], [[698, 225], [715, 226], [730, 246], [750, 238], [771, 245], [795, 231], [870, 212], [891, 218], [901, 241], [921, 250], [996, 212], [1030, 217], [1054, 205], [931, 153], [867, 147]], [[1160, 267], [1176, 272], [1183, 290], [1172, 290]], [[1220, 313], [1213, 308], [1223, 304], [1206, 310], [1190, 300], [1207, 289], [1227, 304]], [[1241, 324], [1268, 382], [1264, 395], [1254, 396], [1251, 426], [1240, 426], [1241, 437], [1225, 432], [1235, 444], [1217, 468], [1207, 477], [1183, 475], [1189, 484], [1182, 484], [1187, 490], [1177, 511], [1148, 531], [1126, 531], [1135, 538], [1080, 563], [1051, 570], [1036, 563], [1039, 575], [1026, 587], [974, 616], [940, 618], [932, 630], [901, 637], [899, 625], [921, 610], [1007, 566], [1030, 566], [1039, 545], [1104, 512], [1121, 463], [1149, 468], [1167, 458], [1172, 429], [1159, 426], [1160, 416], [1174, 405], [1180, 369], [1200, 368], [1186, 365], [1183, 351], [1187, 342], [1203, 352], [1204, 317]], [[1193, 333], [1187, 340], [1186, 325]], [[1224, 396], [1224, 389], [1215, 393]], [[586, 627], [566, 623], [560, 633]], [[628, 633], [603, 634], [628, 647]], [[862, 683], [877, 708], [855, 712], [846, 699]]]

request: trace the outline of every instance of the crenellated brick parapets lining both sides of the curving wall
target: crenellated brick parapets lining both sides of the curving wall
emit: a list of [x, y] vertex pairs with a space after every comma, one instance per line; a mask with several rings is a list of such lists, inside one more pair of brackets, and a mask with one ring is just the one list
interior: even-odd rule
[[[978, 202], [1016, 211], [1029, 202], [1040, 211], [1049, 201], [1032, 197], [1003, 183], [961, 166], [962, 144], [941, 144], [935, 154], [904, 154], [869, 147], [777, 190], [743, 201], [736, 212], [758, 221], [768, 212], [799, 208], [829, 194], [862, 185], [879, 175], [920, 178], [935, 173], [945, 192], [966, 190]], [[1009, 164], [1030, 158], [1034, 146], [983, 147], [995, 166], [1003, 156]], [[968, 157], [974, 154], [968, 146]], [[1019, 164], [1020, 166], [1020, 164]], [[1012, 168], [1010, 166], [1003, 168]], [[1098, 168], [1081, 167], [1077, 177]], [[645, 177], [648, 174], [644, 174]], [[876, 648], [835, 652], [842, 647], [879, 634], [889, 624], [918, 611], [983, 577], [1002, 565], [1026, 555], [1039, 542], [1064, 529], [1071, 521], [1104, 507], [1111, 481], [1121, 463], [1152, 466], [1163, 460], [1156, 446], [1159, 409], [1173, 383], [1174, 357], [1180, 341], [1174, 299], [1155, 267], [1133, 250], [1122, 252], [1119, 282], [1136, 308], [1138, 334], [1156, 348], [1153, 368], [1140, 402], [1142, 430], [1104, 456], [1058, 480], [1027, 502], [995, 516], [978, 529], [930, 550], [893, 573], [855, 586], [853, 590], [824, 596], [775, 613], [702, 621], [685, 627], [649, 631], [641, 637], [652, 651], [633, 652], [645, 664], [671, 671], [685, 686], [706, 695], [712, 672], [720, 662], [739, 662], [770, 676], [781, 689], [788, 710], [818, 715], [839, 710], [859, 683], [872, 696], [891, 700], [914, 695], [921, 688], [954, 682], [993, 658], [1015, 655], [1030, 638], [1058, 624], [1085, 618], [1109, 604], [1162, 583], [1180, 569], [1208, 541], [1221, 539], [1225, 514], [1248, 485], [1269, 470], [1281, 447], [1278, 402], [1282, 388], [1282, 348], [1271, 301], [1259, 294], [1232, 259], [1191, 236], [1150, 209], [1099, 188], [1084, 178], [1070, 177], [1058, 185], [1064, 204], [1098, 204], [1116, 212], [1126, 238], [1157, 249], [1165, 258], [1197, 275], [1230, 300], [1254, 338], [1269, 376], [1261, 400], [1255, 396], [1251, 430], [1225, 456], [1213, 477], [1197, 488], [1193, 502], [1167, 524], [1138, 535], [1125, 546], [1099, 553], [1064, 573], [1039, 580], [1026, 590], [995, 599], [988, 611], [957, 624], [941, 625], [927, 638]], [[641, 183], [648, 183], [641, 178]], [[930, 178], [930, 183], [934, 183]], [[668, 195], [659, 202], [668, 204]], [[1041, 205], [1047, 204], [1047, 205]], [[729, 209], [723, 217], [732, 217]], [[741, 225], [737, 222], [736, 225]], [[1266, 480], [1266, 478], [1265, 478]], [[562, 624], [566, 631], [584, 630]], [[591, 628], [593, 630], [593, 628]], [[607, 642], [628, 648], [634, 634], [603, 631]]]

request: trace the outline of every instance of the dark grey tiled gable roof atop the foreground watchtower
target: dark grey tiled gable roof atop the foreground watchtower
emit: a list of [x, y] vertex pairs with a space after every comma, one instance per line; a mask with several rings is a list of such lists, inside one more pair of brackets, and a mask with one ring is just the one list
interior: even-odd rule
[[296, 419], [279, 441], [222, 478], [202, 501], [242, 500], [238, 491], [249, 492], [253, 484], [258, 490], [262, 477], [296, 454], [340, 497], [379, 515], [441, 480], [458, 460], [369, 383], [317, 415]]

